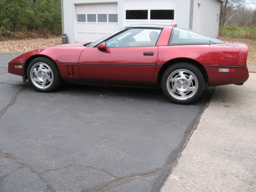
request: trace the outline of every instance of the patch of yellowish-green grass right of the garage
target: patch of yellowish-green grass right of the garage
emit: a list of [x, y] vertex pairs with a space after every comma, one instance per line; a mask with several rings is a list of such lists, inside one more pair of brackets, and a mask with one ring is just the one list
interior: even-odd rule
[[256, 40], [256, 27], [226, 26], [220, 28], [220, 37]]

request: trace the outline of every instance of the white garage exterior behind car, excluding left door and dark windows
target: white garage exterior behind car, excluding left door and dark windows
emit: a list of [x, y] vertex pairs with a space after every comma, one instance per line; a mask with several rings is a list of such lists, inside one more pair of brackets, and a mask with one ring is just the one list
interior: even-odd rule
[[[69, 42], [79, 41], [76, 33], [76, 5], [117, 3], [117, 28], [141, 23], [160, 23], [177, 24], [180, 28], [188, 29], [189, 23], [191, 23], [193, 30], [217, 37], [219, 31], [217, 14], [220, 14], [220, 1], [194, 0], [194, 11], [190, 12], [191, 1], [193, 2], [193, 0], [63, 0], [63, 32], [68, 35]], [[201, 5], [198, 6], [198, 3]], [[174, 9], [174, 20], [127, 20], [125, 18], [125, 10], [127, 9]], [[190, 18], [193, 19], [193, 22]], [[115, 29], [113, 28], [113, 31]]]

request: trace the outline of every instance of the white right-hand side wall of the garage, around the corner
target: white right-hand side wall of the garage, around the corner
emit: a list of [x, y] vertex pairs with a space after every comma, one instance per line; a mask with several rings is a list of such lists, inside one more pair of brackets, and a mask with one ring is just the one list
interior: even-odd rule
[[[200, 5], [199, 5], [200, 4]], [[194, 0], [193, 30], [218, 37], [220, 1]]]

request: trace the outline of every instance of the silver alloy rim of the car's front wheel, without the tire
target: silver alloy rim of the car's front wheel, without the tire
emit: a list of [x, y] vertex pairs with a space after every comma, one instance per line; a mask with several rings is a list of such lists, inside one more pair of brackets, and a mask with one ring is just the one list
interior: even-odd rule
[[36, 62], [31, 67], [30, 77], [32, 83], [39, 89], [47, 89], [53, 82], [53, 71], [44, 62]]

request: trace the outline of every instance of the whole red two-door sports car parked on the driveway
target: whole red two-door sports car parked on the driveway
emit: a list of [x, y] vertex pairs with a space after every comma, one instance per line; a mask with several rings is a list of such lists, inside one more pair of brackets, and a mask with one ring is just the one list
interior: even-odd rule
[[8, 71], [41, 92], [61, 81], [161, 87], [175, 103], [197, 100], [206, 86], [243, 84], [248, 47], [179, 29], [133, 25], [95, 42], [37, 49], [9, 62]]

